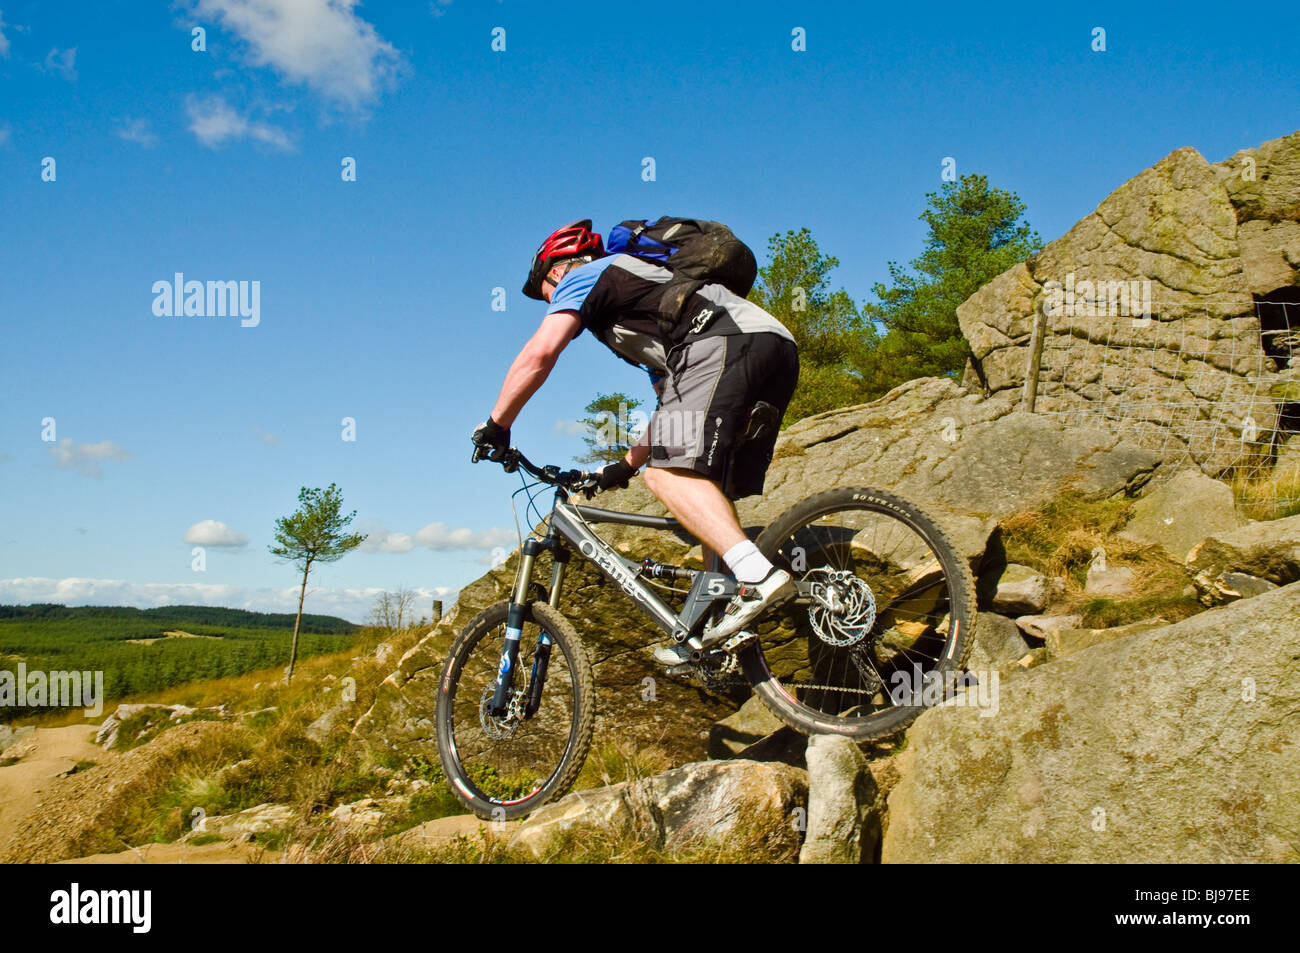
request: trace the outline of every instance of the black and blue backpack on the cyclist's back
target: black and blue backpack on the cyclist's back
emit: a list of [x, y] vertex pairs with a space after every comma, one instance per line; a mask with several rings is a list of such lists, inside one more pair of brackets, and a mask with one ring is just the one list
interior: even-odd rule
[[758, 263], [749, 246], [722, 222], [703, 218], [656, 221], [630, 220], [610, 229], [604, 243], [610, 255], [632, 255], [663, 265], [672, 281], [660, 303], [659, 325], [676, 328], [686, 300], [705, 285], [723, 285], [746, 296], [758, 277]]

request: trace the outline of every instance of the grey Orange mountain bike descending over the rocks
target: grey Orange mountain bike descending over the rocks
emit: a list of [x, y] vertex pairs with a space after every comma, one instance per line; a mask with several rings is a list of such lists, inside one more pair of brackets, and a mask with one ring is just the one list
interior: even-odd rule
[[[595, 720], [592, 663], [560, 612], [575, 553], [685, 646], [689, 659], [670, 672], [712, 689], [748, 683], [772, 714], [806, 735], [894, 735], [927, 702], [918, 686], [966, 663], [975, 616], [970, 568], [935, 520], [894, 493], [836, 488], [784, 512], [755, 543], [794, 577], [796, 594], [764, 610], [750, 631], [706, 649], [701, 636], [737, 588], [720, 562], [706, 569], [637, 562], [594, 529], [621, 524], [692, 538], [677, 520], [584, 504], [594, 475], [537, 467], [514, 447], [495, 462], [520, 472], [516, 494], [528, 493], [530, 504], [545, 488], [555, 497], [523, 541], [511, 598], [465, 625], [438, 683], [442, 767], [455, 796], [481, 818], [517, 818], [563, 796], [586, 761]], [[546, 553], [552, 564], [543, 585], [533, 576]]]

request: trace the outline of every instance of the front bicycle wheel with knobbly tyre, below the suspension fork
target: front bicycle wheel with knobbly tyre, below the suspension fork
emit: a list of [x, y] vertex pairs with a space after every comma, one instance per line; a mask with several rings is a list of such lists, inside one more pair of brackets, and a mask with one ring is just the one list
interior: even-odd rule
[[[451, 645], [438, 683], [438, 757], [456, 798], [480, 818], [508, 820], [563, 796], [588, 750], [595, 718], [592, 664], [568, 620], [545, 602], [528, 607], [512, 703], [489, 709], [506, 641], [500, 602], [480, 612]], [[528, 714], [542, 637], [550, 640], [545, 688]]]

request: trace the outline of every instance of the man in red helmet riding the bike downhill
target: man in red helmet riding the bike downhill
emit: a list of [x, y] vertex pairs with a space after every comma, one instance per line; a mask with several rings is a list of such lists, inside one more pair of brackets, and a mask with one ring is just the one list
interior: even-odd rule
[[[637, 446], [597, 471], [599, 489], [627, 486], [642, 467], [646, 486], [723, 562], [741, 584], [706, 647], [741, 632], [762, 610], [793, 593], [790, 575], [772, 566], [745, 536], [732, 499], [763, 491], [776, 428], [737, 455], [732, 498], [723, 467], [757, 400], [785, 412], [798, 380], [790, 332], [757, 304], [719, 283], [694, 291], [666, 326], [659, 304], [672, 272], [630, 255], [606, 255], [589, 220], [554, 231], [533, 257], [524, 294], [549, 303], [546, 316], [506, 373], [491, 413], [473, 433], [476, 446], [499, 460], [510, 426], [550, 374], [560, 352], [590, 330], [615, 354], [646, 368], [659, 397]], [[707, 553], [706, 553], [707, 564]], [[681, 646], [655, 658], [677, 664]]]

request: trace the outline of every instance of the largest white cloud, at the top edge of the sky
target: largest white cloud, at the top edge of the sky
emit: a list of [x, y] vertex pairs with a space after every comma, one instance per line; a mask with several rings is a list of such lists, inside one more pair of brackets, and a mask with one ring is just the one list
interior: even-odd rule
[[332, 103], [358, 109], [372, 101], [402, 66], [398, 51], [354, 12], [358, 0], [195, 0], [248, 43], [255, 66]]

